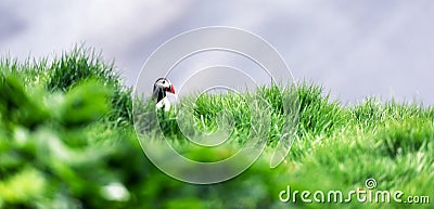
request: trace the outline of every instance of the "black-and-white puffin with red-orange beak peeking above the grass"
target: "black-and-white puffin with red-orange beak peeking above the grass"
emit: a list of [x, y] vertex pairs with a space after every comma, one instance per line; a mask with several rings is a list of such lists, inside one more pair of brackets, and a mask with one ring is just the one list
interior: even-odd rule
[[152, 97], [156, 100], [156, 108], [164, 107], [165, 112], [170, 109], [170, 102], [166, 96], [166, 92], [175, 94], [174, 84], [167, 78], [158, 78], [154, 83]]

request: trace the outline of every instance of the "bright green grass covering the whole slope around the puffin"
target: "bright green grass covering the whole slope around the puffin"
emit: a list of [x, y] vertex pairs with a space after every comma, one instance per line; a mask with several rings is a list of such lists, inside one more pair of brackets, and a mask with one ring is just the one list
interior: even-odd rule
[[[265, 99], [271, 118], [269, 132], [264, 132], [266, 152], [253, 167], [224, 183], [193, 185], [167, 177], [144, 156], [132, 123], [131, 88], [124, 87], [116, 67], [93, 50], [75, 48], [59, 57], [24, 63], [5, 57], [0, 71], [0, 208], [433, 206], [434, 108], [430, 106], [375, 99], [342, 105], [321, 87], [306, 82], [283, 92], [272, 86], [243, 94], [202, 94], [197, 101], [193, 95], [184, 97], [181, 104], [193, 113], [194, 126], [183, 127], [189, 134], [233, 128], [229, 145], [197, 147], [181, 134], [174, 110], [164, 118], [158, 113], [159, 126], [174, 147], [195, 160], [224, 159], [248, 140], [250, 122], [264, 110], [245, 105], [255, 96]], [[135, 101], [139, 104], [135, 107], [153, 107]], [[231, 115], [229, 120], [221, 117], [224, 113]], [[145, 117], [135, 115], [139, 123], [145, 123]], [[270, 169], [272, 151], [283, 128], [291, 126], [295, 126], [286, 129], [294, 131], [291, 152], [283, 164]], [[153, 144], [156, 151], [162, 146]], [[429, 195], [431, 204], [279, 201], [286, 185], [345, 193], [367, 191], [368, 178], [376, 180], [376, 190], [403, 191], [405, 198]], [[110, 195], [108, 185], [127, 193]]]

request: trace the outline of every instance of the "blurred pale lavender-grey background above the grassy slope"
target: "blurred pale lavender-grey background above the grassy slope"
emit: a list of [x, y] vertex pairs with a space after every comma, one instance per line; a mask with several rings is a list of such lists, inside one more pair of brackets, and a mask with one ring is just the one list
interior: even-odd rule
[[[434, 105], [432, 19], [430, 0], [2, 0], [0, 54], [24, 61], [85, 43], [115, 60], [132, 86], [146, 58], [169, 38], [231, 26], [263, 37], [296, 80], [322, 84], [344, 104], [375, 95]], [[202, 61], [209, 57], [216, 55]]]

